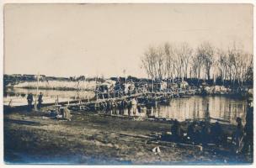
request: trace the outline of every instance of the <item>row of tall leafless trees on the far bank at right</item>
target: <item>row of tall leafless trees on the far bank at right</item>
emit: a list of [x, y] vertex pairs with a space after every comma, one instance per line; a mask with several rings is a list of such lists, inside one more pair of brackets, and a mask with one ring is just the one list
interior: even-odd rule
[[151, 79], [193, 78], [233, 86], [253, 83], [253, 55], [236, 45], [221, 50], [208, 42], [196, 49], [185, 42], [165, 43], [149, 47], [141, 62]]

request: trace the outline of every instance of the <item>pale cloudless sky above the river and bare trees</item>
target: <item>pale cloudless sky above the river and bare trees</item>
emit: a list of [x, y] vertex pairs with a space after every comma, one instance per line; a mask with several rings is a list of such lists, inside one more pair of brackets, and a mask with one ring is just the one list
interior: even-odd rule
[[203, 42], [253, 53], [250, 4], [7, 4], [4, 73], [147, 77], [149, 46]]

